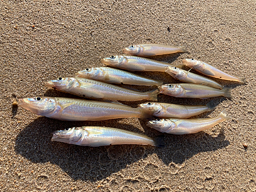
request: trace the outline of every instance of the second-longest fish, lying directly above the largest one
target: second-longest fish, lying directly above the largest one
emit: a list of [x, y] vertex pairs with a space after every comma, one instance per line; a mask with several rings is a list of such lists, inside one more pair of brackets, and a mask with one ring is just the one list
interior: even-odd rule
[[138, 92], [113, 84], [80, 77], [59, 77], [45, 83], [48, 88], [80, 97], [120, 101], [157, 100], [158, 89]]

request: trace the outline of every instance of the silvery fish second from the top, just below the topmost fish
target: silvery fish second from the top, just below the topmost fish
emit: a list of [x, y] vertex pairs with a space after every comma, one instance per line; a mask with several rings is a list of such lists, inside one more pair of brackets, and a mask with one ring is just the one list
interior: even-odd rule
[[[174, 67], [167, 62], [156, 61], [153, 59], [147, 59], [143, 57], [136, 57], [131, 55], [112, 55], [101, 59], [101, 62], [105, 65], [126, 69], [129, 71], [160, 71], [164, 72], [165, 67]], [[181, 66], [177, 66], [181, 67]]]

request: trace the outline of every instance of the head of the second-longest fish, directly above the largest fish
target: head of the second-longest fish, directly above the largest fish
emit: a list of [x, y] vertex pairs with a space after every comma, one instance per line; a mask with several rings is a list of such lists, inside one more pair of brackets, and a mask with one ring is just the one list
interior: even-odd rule
[[76, 83], [76, 79], [74, 77], [59, 77], [54, 80], [47, 81], [45, 86], [52, 89], [57, 89], [59, 91], [69, 90]]

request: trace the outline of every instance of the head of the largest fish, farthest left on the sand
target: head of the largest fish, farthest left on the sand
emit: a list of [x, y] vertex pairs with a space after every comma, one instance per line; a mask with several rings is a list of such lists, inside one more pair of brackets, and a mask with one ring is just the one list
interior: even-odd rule
[[45, 115], [55, 109], [56, 101], [52, 97], [18, 98], [18, 106], [37, 115]]

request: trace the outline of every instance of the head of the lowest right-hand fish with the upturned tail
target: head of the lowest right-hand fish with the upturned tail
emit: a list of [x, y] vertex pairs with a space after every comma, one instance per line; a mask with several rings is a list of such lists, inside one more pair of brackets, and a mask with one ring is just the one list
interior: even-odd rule
[[167, 130], [173, 129], [176, 126], [175, 122], [169, 119], [160, 119], [160, 118], [156, 120], [148, 121], [146, 125], [162, 133], [166, 133]]

